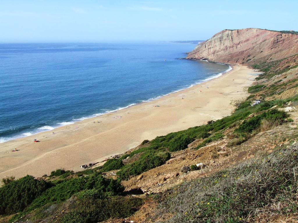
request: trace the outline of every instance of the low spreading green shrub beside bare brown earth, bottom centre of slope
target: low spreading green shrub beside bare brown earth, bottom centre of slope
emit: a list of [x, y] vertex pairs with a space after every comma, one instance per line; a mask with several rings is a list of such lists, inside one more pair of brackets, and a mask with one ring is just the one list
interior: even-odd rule
[[137, 176], [149, 169], [164, 164], [168, 159], [170, 159], [170, 153], [166, 151], [157, 152], [155, 150], [149, 150], [142, 154], [139, 160], [125, 165], [119, 172], [117, 172], [117, 175], [119, 175], [122, 180], [127, 180], [131, 176]]

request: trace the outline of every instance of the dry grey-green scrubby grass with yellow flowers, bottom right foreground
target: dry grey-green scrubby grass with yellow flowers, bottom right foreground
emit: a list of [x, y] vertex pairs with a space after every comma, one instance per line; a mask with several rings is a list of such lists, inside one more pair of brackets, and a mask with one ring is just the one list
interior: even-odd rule
[[[298, 145], [167, 191], [160, 222], [266, 222], [298, 213]], [[160, 216], [172, 213], [171, 219]], [[292, 217], [293, 218], [293, 217]]]

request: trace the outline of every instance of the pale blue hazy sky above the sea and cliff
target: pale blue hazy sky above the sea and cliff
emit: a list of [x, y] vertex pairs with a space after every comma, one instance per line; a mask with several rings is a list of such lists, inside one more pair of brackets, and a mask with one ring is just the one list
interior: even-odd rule
[[207, 40], [224, 29], [298, 31], [297, 8], [297, 0], [0, 0], [0, 42]]

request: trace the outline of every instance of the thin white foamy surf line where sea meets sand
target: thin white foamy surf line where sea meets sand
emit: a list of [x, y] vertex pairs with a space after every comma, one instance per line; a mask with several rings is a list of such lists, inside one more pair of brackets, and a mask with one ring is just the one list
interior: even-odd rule
[[[207, 60], [200, 60], [200, 61], [209, 62], [209, 61], [207, 61]], [[198, 84], [202, 84], [202, 83], [205, 83], [205, 82], [210, 81], [210, 80], [212, 80], [212, 79], [218, 78], [218, 77], [224, 75], [225, 73], [227, 73], [227, 72], [229, 72], [229, 71], [231, 71], [231, 70], [233, 69], [231, 65], [223, 64], [223, 63], [218, 63], [218, 64], [227, 65], [227, 66], [229, 66], [229, 68], [226, 69], [226, 70], [224, 70], [224, 71], [219, 72], [218, 74], [212, 74], [212, 75], [210, 75], [209, 77], [207, 77], [207, 78], [205, 78], [205, 79], [203, 79], [203, 80], [195, 81], [194, 84], [190, 84], [190, 86], [187, 87], [187, 88], [183, 88], [183, 89], [175, 90], [175, 91], [172, 91], [172, 92], [170, 92], [170, 93], [167, 93], [167, 94], [164, 94], [164, 95], [159, 95], [159, 96], [156, 96], [156, 97], [154, 97], [154, 98], [149, 98], [148, 100], [143, 100], [143, 101], [140, 101], [140, 102], [137, 102], [137, 103], [131, 103], [131, 104], [125, 106], [125, 107], [119, 107], [119, 108], [114, 109], [114, 110], [108, 110], [108, 111], [106, 111], [106, 112], [104, 112], [104, 113], [93, 114], [93, 115], [90, 115], [90, 116], [87, 116], [87, 117], [83, 116], [83, 117], [81, 117], [81, 118], [72, 119], [72, 120], [69, 120], [69, 121], [63, 121], [63, 122], [61, 122], [61, 123], [56, 123], [56, 125], [60, 125], [60, 126], [56, 126], [56, 127], [55, 127], [55, 126], [53, 127], [52, 125], [41, 126], [41, 127], [39, 127], [39, 128], [36, 128], [35, 130], [33, 130], [33, 132], [35, 132], [35, 133], [33, 133], [33, 134], [32, 134], [31, 132], [20, 133], [20, 134], [18, 134], [18, 135], [24, 135], [24, 136], [21, 136], [21, 137], [17, 137], [17, 136], [16, 136], [16, 137], [14, 137], [14, 136], [9, 137], [9, 138], [11, 138], [11, 139], [6, 140], [6, 141], [3, 141], [3, 142], [0, 141], [0, 145], [1, 145], [2, 143], [4, 143], [4, 142], [9, 142], [9, 141], [12, 141], [12, 140], [15, 140], [15, 139], [22, 139], [22, 138], [25, 138], [25, 137], [28, 137], [28, 136], [34, 136], [34, 135], [39, 134], [39, 133], [42, 133], [42, 132], [55, 131], [57, 128], [60, 128], [60, 127], [66, 126], [66, 125], [72, 125], [72, 124], [75, 124], [75, 123], [77, 123], [77, 122], [80, 122], [80, 121], [83, 121], [83, 120], [86, 120], [86, 119], [91, 119], [91, 118], [99, 117], [99, 116], [102, 116], [102, 115], [105, 115], [105, 114], [109, 114], [109, 113], [113, 113], [113, 112], [120, 111], [120, 110], [122, 110], [122, 109], [129, 108], [129, 107], [131, 107], [131, 106], [135, 106], [135, 105], [139, 105], [139, 104], [142, 104], [142, 103], [151, 102], [151, 101], [153, 101], [153, 100], [158, 100], [158, 99], [160, 99], [160, 98], [162, 98], [162, 97], [164, 97], [164, 96], [167, 96], [167, 95], [170, 95], [170, 94], [179, 92], [179, 91], [183, 91], [183, 90], [189, 89], [189, 88], [191, 88], [191, 87], [194, 87], [194, 86], [196, 86], [196, 85], [198, 85]], [[44, 131], [37, 131], [38, 129], [44, 129]]]

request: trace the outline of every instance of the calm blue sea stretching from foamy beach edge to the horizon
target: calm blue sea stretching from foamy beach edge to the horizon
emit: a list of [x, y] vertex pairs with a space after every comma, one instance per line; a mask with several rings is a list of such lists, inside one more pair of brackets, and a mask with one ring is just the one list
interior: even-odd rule
[[192, 44], [0, 44], [0, 142], [154, 100], [229, 66], [185, 60]]

